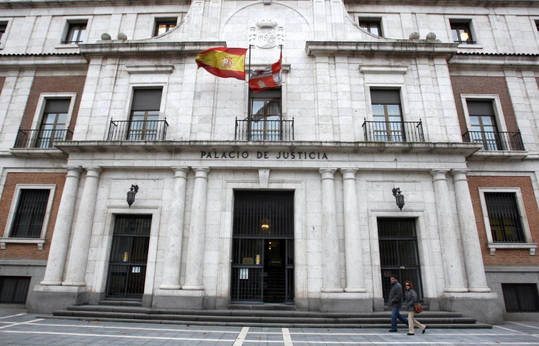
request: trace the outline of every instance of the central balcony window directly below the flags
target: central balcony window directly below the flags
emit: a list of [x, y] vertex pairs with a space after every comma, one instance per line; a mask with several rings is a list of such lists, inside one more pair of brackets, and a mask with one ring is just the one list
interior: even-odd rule
[[281, 140], [281, 88], [251, 93], [249, 115], [250, 140]]

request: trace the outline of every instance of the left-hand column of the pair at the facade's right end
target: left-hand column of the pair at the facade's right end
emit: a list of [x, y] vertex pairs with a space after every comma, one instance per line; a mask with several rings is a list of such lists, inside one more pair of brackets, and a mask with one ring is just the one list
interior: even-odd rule
[[433, 169], [431, 175], [436, 198], [438, 233], [440, 234], [441, 257], [444, 262], [445, 292], [468, 292], [464, 286], [464, 273], [460, 261], [457, 233], [451, 210], [451, 199], [447, 188], [448, 169]]

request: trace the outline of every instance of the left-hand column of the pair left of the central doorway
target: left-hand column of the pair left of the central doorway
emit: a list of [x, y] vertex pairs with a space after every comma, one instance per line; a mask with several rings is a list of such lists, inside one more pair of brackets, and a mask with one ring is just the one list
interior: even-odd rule
[[187, 185], [187, 167], [172, 167], [174, 187], [170, 201], [169, 224], [167, 230], [167, 248], [165, 249], [162, 290], [179, 290], [179, 266], [182, 263], [183, 222], [185, 214], [185, 188]]

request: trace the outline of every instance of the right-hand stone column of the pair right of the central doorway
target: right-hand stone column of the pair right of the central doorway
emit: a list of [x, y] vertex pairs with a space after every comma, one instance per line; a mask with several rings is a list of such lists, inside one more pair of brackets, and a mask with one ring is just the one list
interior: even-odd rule
[[363, 287], [360, 214], [357, 210], [356, 168], [341, 168], [344, 204], [344, 292], [367, 292]]

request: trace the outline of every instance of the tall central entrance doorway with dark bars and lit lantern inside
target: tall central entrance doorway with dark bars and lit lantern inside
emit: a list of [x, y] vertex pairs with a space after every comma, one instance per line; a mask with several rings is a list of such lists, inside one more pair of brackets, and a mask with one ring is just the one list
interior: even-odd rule
[[235, 191], [231, 299], [294, 301], [294, 192]]

